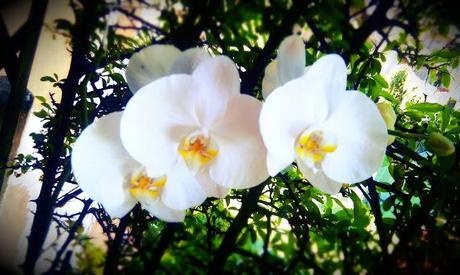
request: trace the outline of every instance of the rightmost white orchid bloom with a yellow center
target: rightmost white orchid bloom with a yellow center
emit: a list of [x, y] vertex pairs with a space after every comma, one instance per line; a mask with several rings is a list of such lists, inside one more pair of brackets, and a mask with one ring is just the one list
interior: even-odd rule
[[343, 183], [371, 177], [383, 161], [387, 129], [374, 102], [359, 91], [345, 90], [343, 59], [327, 55], [304, 75], [293, 68], [278, 71], [284, 73], [285, 79], [297, 78], [276, 88], [260, 115], [269, 174], [275, 176], [296, 161], [313, 186], [330, 194]]

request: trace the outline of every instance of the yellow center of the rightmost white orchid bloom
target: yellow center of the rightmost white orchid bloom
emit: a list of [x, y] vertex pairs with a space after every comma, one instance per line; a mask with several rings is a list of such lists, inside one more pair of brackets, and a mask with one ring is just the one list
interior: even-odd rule
[[310, 167], [317, 167], [326, 154], [337, 149], [335, 138], [331, 135], [325, 137], [323, 131], [304, 132], [299, 137], [296, 145], [297, 155]]

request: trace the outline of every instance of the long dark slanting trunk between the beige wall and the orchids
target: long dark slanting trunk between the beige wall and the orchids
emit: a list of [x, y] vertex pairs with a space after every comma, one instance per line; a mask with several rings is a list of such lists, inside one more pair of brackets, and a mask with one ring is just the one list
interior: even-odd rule
[[[82, 4], [84, 12], [82, 17], [77, 17], [75, 24], [74, 29], [76, 31], [73, 33], [72, 61], [68, 76], [62, 85], [62, 100], [56, 112], [58, 123], [48, 135], [54, 151], [48, 157], [46, 165], [43, 168], [43, 184], [36, 200], [37, 211], [32, 222], [26, 259], [23, 265], [25, 274], [33, 273], [35, 263], [40, 256], [41, 248], [49, 230], [55, 202], [52, 200], [52, 190], [56, 182], [56, 172], [62, 165], [61, 150], [69, 128], [79, 79], [86, 73], [85, 70], [89, 67], [87, 66], [86, 53], [89, 48], [90, 35], [93, 33], [99, 18], [97, 12], [98, 1], [82, 1]], [[33, 13], [36, 12], [33, 8], [32, 11]]]

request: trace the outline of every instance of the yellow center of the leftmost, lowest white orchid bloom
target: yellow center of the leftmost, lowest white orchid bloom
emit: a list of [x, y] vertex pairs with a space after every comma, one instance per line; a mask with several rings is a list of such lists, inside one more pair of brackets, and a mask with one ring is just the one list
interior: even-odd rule
[[135, 173], [131, 176], [129, 193], [134, 198], [157, 198], [166, 184], [166, 176], [150, 178], [145, 172]]

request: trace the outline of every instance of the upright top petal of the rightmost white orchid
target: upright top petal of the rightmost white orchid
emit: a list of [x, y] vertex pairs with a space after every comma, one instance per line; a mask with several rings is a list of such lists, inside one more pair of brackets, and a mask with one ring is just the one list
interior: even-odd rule
[[325, 93], [330, 108], [337, 104], [338, 93], [345, 91], [347, 86], [347, 66], [342, 57], [329, 54], [318, 59], [305, 74], [306, 82], [314, 85], [309, 88], [311, 93]]

